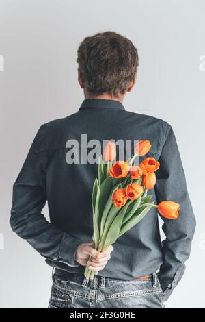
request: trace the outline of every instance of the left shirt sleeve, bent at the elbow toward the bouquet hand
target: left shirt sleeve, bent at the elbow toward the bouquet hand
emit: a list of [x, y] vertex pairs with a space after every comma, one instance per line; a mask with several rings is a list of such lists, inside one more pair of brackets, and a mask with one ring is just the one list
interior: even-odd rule
[[45, 258], [78, 267], [75, 252], [81, 241], [59, 230], [41, 213], [46, 203], [46, 188], [38, 171], [37, 141], [38, 134], [14, 182], [10, 225]]

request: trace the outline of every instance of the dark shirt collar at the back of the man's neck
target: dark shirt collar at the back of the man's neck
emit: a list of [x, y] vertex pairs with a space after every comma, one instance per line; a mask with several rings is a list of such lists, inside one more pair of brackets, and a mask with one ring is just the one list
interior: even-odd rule
[[115, 101], [113, 99], [84, 99], [79, 110], [83, 110], [84, 108], [113, 108], [125, 110], [120, 101]]

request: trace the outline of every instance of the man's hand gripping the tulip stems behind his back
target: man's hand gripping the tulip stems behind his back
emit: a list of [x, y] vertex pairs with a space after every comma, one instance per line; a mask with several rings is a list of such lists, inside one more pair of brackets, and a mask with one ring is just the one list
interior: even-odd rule
[[[92, 269], [92, 271], [102, 271], [108, 260], [111, 258], [110, 254], [113, 251], [113, 246], [109, 246], [105, 251], [102, 251], [102, 253], [94, 249], [93, 246], [94, 243], [85, 243], [79, 245], [77, 247], [75, 260], [84, 266], [89, 264], [89, 269]], [[92, 258], [90, 258], [90, 256], [92, 256]]]

